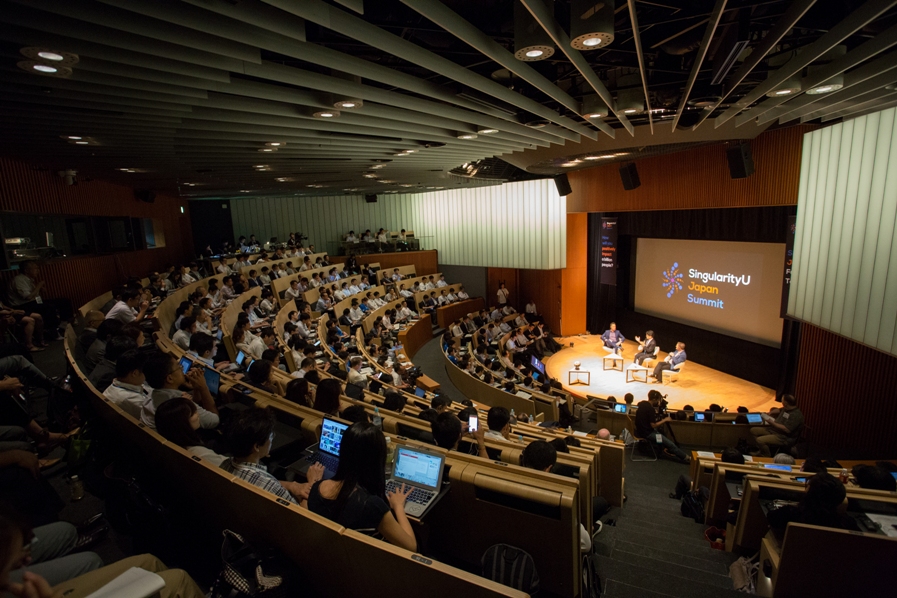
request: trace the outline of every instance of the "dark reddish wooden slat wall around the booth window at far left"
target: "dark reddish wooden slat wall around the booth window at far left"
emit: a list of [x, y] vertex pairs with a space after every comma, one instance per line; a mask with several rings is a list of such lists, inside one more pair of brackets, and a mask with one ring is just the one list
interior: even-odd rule
[[[165, 230], [166, 246], [159, 249], [50, 260], [42, 264], [45, 296], [67, 297], [77, 308], [125, 280], [143, 278], [169, 263], [190, 259], [193, 239], [190, 220], [181, 214], [177, 198], [157, 195], [155, 203], [137, 201], [129, 187], [105, 181], [80, 181], [68, 186], [55, 172], [8, 158], [0, 158], [0, 210], [32, 214], [130, 216], [157, 218]], [[11, 272], [0, 272], [6, 285]]]

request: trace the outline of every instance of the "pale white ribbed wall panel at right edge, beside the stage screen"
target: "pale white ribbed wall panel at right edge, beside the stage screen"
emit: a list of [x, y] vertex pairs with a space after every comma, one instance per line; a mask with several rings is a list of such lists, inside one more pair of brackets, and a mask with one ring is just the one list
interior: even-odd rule
[[897, 355], [897, 109], [804, 135], [788, 314]]

